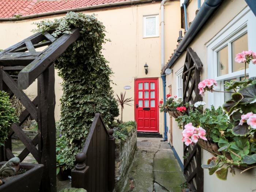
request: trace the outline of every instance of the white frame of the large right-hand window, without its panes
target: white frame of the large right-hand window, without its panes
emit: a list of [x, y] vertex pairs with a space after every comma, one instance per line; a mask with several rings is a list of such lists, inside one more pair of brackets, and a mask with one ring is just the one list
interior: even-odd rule
[[[256, 18], [250, 8], [247, 6], [242, 10], [234, 19], [232, 19], [214, 38], [207, 44], [207, 67], [208, 79], [215, 79], [218, 86], [215, 88], [217, 91], [224, 91], [224, 80], [239, 78], [244, 75], [244, 70], [232, 72], [232, 57], [229, 57], [229, 74], [218, 76], [217, 69], [217, 52], [228, 46], [228, 52], [231, 54], [231, 42], [241, 37], [245, 33], [248, 35], [248, 50], [256, 51]], [[241, 64], [242, 65], [242, 64]], [[249, 77], [256, 76], [256, 66], [249, 64], [249, 69], [246, 69], [246, 75]], [[224, 93], [209, 93], [208, 107], [214, 105], [215, 107], [221, 106], [224, 102]]]

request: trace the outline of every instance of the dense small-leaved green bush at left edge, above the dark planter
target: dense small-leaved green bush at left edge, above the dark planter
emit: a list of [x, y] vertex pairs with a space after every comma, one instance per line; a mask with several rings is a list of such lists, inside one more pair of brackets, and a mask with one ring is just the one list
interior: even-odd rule
[[11, 105], [9, 95], [4, 91], [0, 91], [0, 146], [4, 146], [4, 142], [8, 138], [10, 126], [18, 122], [15, 108]]

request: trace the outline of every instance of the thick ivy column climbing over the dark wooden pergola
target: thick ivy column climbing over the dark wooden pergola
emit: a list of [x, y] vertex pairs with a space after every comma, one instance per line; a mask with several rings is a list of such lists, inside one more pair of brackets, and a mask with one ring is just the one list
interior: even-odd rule
[[60, 151], [65, 159], [64, 169], [71, 169], [75, 155], [83, 148], [94, 114], [101, 113], [106, 127], [111, 127], [119, 114], [111, 87], [112, 70], [101, 51], [108, 39], [105, 27], [94, 15], [68, 12], [63, 18], [44, 20], [36, 25], [35, 31], [53, 30], [54, 37], [70, 34], [74, 28], [81, 30], [79, 39], [55, 61], [55, 68], [63, 79], [59, 140], [65, 140], [66, 145], [61, 146]]

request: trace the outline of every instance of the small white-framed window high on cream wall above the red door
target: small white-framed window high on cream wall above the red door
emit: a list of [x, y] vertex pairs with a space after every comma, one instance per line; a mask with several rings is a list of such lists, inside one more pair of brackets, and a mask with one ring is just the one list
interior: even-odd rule
[[143, 16], [143, 38], [159, 37], [158, 15]]

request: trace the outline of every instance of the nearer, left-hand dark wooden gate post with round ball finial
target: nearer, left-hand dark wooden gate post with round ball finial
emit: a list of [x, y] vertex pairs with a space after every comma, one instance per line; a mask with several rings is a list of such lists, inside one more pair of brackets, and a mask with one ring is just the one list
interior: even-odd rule
[[75, 169], [72, 170], [71, 172], [71, 179], [72, 179], [72, 184], [71, 187], [74, 188], [84, 188], [86, 189], [86, 182], [85, 177], [86, 177], [86, 172], [89, 169], [89, 166], [86, 166], [85, 161], [86, 161], [86, 154], [81, 152], [76, 155], [76, 166]]

